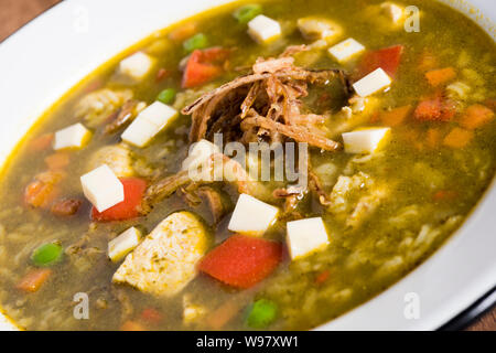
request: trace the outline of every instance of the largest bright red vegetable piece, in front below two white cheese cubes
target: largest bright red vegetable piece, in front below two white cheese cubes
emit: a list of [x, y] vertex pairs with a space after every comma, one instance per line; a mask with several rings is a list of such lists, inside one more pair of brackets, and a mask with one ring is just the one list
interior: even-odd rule
[[208, 253], [198, 268], [228, 286], [246, 289], [268, 277], [281, 257], [280, 243], [234, 235]]

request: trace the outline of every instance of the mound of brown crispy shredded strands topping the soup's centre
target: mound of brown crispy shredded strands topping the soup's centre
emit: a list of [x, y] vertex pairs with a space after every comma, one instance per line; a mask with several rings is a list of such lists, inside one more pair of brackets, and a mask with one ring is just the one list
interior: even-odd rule
[[319, 127], [324, 117], [302, 114], [302, 98], [309, 85], [327, 85], [339, 79], [347, 96], [351, 82], [341, 69], [311, 71], [294, 66], [294, 55], [305, 45], [290, 46], [278, 58], [259, 58], [251, 73], [240, 76], [196, 99], [182, 110], [192, 116], [190, 141], [213, 139], [224, 133], [227, 141], [250, 142], [284, 139], [309, 142], [311, 146], [334, 151], [338, 142], [327, 139]]

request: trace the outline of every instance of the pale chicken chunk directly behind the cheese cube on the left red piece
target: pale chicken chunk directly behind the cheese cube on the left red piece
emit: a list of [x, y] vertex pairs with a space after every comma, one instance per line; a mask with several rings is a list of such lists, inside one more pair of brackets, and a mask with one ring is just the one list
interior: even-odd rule
[[94, 170], [101, 164], [107, 164], [117, 176], [134, 174], [131, 151], [123, 143], [105, 146], [97, 150], [89, 159], [87, 170]]

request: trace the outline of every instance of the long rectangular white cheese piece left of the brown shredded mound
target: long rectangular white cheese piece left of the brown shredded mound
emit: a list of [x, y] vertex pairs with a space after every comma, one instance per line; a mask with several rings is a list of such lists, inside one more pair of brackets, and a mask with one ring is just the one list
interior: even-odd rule
[[137, 147], [144, 147], [158, 135], [166, 125], [169, 125], [179, 113], [174, 108], [155, 101], [143, 109], [122, 132], [122, 140]]

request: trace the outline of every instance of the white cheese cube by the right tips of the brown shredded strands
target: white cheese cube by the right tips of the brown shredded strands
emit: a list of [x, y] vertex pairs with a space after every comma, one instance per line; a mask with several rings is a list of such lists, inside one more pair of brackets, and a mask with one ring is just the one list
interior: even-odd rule
[[390, 128], [370, 128], [343, 133], [346, 153], [374, 153], [388, 139]]

